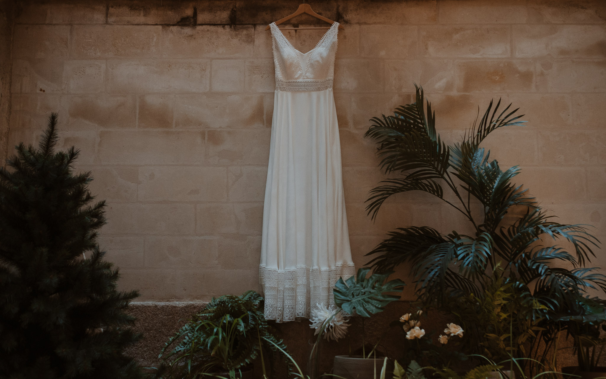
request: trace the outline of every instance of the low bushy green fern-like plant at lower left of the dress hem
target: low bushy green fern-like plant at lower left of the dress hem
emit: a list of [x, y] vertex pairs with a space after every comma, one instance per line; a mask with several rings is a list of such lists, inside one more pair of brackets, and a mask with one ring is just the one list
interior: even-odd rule
[[267, 377], [265, 357], [275, 355], [284, 358], [291, 372], [286, 346], [263, 315], [263, 301], [255, 291], [213, 298], [165, 344], [159, 355], [162, 378], [251, 379], [257, 357]]

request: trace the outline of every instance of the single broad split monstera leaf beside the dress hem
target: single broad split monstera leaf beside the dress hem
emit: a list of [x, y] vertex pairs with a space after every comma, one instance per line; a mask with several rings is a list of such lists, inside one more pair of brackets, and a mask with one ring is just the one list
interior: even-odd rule
[[355, 277], [348, 280], [339, 278], [335, 284], [335, 304], [350, 315], [356, 314], [370, 317], [379, 313], [391, 301], [399, 300], [399, 296], [386, 295], [385, 292], [400, 292], [406, 285], [399, 279], [385, 281], [393, 271], [373, 273], [366, 277], [370, 268], [362, 267]]

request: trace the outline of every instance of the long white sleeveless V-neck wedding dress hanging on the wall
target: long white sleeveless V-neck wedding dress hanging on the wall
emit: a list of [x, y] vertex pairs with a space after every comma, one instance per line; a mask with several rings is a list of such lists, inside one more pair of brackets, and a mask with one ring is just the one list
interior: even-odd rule
[[333, 97], [338, 22], [301, 53], [271, 25], [276, 92], [259, 281], [265, 318], [309, 318], [334, 304], [339, 277], [355, 274]]

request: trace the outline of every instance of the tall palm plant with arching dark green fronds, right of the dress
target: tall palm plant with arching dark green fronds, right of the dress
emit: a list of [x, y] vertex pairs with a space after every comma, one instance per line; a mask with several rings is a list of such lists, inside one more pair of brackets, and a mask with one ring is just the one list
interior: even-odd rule
[[[553, 324], [562, 314], [587, 314], [587, 308], [579, 306], [585, 290], [606, 290], [606, 277], [595, 272], [596, 267], [585, 267], [599, 241], [586, 225], [554, 221], [527, 189], [513, 184], [519, 166], [502, 170], [489, 158], [490, 151], [480, 147], [494, 130], [524, 124], [511, 104], [500, 107], [500, 99], [496, 105], [490, 101], [480, 121], [476, 118], [452, 145], [436, 131], [435, 112], [429, 101], [425, 105], [420, 87], [412, 104], [396, 108], [392, 116], [371, 119], [366, 136], [376, 139], [381, 169], [391, 178], [371, 190], [369, 215], [375, 218], [390, 196], [418, 190], [462, 213], [474, 233], [398, 228], [368, 253], [374, 256], [368, 264], [377, 272], [409, 264], [418, 295], [428, 306], [447, 309], [453, 298], [481, 296], [485, 283], [499, 280], [496, 275], [537, 304], [531, 315], [535, 320]], [[473, 211], [478, 204], [481, 214]]]

